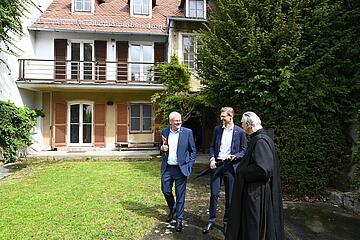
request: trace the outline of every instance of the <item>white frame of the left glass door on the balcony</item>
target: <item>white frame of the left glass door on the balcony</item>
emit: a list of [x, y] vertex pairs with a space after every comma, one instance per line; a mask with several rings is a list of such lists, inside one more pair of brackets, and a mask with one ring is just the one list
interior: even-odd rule
[[[84, 43], [89, 43], [91, 44], [92, 46], [92, 50], [91, 50], [91, 61], [92, 61], [92, 72], [91, 72], [91, 76], [92, 78], [94, 79], [94, 76], [95, 76], [95, 66], [94, 66], [94, 59], [95, 59], [95, 44], [94, 44], [94, 41], [92, 40], [68, 40], [68, 48], [67, 48], [67, 60], [68, 60], [68, 66], [67, 66], [67, 69], [70, 69], [69, 71], [67, 71], [67, 79], [71, 79], [71, 44], [72, 43], [80, 43], [80, 61], [84, 61]], [[83, 81], [90, 81], [90, 80], [87, 80], [87, 79], [84, 79], [84, 63], [80, 64], [80, 69], [79, 69], [79, 72], [80, 72], [80, 77], [79, 79], [80, 80], [83, 80]], [[92, 79], [92, 80], [93, 80]]]

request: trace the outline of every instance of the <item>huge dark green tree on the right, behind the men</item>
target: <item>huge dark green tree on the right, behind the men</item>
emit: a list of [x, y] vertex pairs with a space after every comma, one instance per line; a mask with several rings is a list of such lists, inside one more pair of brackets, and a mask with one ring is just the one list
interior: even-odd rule
[[[217, 108], [230, 105], [258, 113], [265, 127], [287, 139], [281, 153], [285, 186], [295, 184], [288, 188], [294, 194], [321, 192], [340, 169], [319, 175], [316, 168], [339, 163], [338, 154], [348, 148], [344, 128], [359, 108], [360, 4], [355, 0], [214, 2], [217, 7], [209, 14], [197, 56], [206, 98]], [[302, 131], [296, 129], [299, 119], [303, 119], [297, 126]], [[337, 157], [322, 150], [328, 143]], [[295, 151], [300, 147], [311, 154]], [[305, 157], [317, 161], [307, 166], [315, 169], [289, 176], [291, 167], [307, 163]], [[295, 181], [306, 172], [313, 177]]]

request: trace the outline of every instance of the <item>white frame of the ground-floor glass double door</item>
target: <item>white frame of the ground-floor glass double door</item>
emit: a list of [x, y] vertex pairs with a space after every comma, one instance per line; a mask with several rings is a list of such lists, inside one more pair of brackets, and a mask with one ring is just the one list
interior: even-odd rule
[[[83, 116], [82, 114], [79, 115], [79, 124], [81, 127], [79, 127], [79, 143], [71, 143], [70, 141], [70, 134], [71, 134], [71, 123], [70, 123], [70, 113], [71, 113], [71, 105], [79, 104], [80, 109], [83, 104], [88, 104], [91, 106], [91, 143], [83, 143]], [[82, 110], [80, 110], [80, 113], [82, 113]], [[92, 101], [69, 101], [67, 105], [67, 145], [69, 147], [90, 147], [93, 146], [94, 143], [94, 102]]]

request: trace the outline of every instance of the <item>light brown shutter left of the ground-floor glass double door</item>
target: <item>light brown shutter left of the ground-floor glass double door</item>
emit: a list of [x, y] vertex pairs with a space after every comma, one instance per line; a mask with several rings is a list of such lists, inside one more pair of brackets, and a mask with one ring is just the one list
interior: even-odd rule
[[54, 104], [54, 132], [53, 142], [55, 147], [66, 146], [66, 121], [67, 106], [66, 103]]

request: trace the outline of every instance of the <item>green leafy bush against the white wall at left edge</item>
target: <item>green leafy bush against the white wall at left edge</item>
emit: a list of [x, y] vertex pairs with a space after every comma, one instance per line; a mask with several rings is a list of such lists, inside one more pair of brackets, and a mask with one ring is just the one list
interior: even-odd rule
[[39, 112], [0, 101], [0, 147], [4, 162], [14, 162], [18, 151], [31, 145], [32, 129]]

